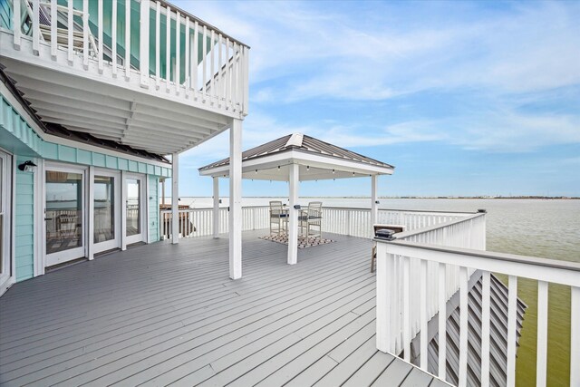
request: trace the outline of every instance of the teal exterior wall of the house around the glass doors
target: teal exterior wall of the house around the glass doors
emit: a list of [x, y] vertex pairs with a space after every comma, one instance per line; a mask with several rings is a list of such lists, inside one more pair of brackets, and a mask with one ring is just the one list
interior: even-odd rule
[[[150, 163], [149, 160], [131, 160], [134, 157], [123, 158], [119, 155], [108, 154], [107, 150], [84, 150], [71, 145], [43, 140], [30, 123], [25, 121], [18, 111], [14, 109], [8, 98], [0, 93], [0, 148], [8, 150], [14, 156], [14, 257], [15, 257], [15, 280], [23, 281], [34, 276], [34, 263], [37, 237], [35, 237], [35, 191], [41, 192], [35, 176], [39, 172], [23, 172], [17, 169], [17, 165], [25, 160], [62, 161], [73, 165], [94, 166], [99, 168], [124, 170], [146, 175], [149, 181], [148, 211], [149, 241], [160, 240], [159, 236], [159, 179], [170, 177], [171, 170], [160, 165]], [[38, 193], [36, 194], [38, 195]], [[43, 217], [37, 215], [37, 220]], [[42, 214], [41, 214], [42, 215]]]

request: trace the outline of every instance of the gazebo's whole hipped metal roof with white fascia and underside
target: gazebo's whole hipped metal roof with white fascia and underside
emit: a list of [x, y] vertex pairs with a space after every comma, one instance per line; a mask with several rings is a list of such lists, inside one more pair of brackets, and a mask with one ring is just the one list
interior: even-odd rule
[[[382, 161], [295, 133], [246, 150], [242, 154], [242, 177], [288, 181], [292, 164], [300, 166], [300, 181], [391, 175], [394, 170]], [[229, 159], [202, 167], [199, 174], [227, 177]]]

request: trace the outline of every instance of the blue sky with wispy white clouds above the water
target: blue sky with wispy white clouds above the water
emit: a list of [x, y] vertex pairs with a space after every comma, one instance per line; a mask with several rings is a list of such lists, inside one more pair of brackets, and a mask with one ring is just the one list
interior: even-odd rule
[[[380, 196], [580, 196], [580, 2], [173, 3], [251, 47], [243, 150], [311, 135], [394, 165]], [[180, 156], [181, 196], [212, 195], [198, 168], [228, 146]], [[300, 186], [369, 195], [368, 178]]]

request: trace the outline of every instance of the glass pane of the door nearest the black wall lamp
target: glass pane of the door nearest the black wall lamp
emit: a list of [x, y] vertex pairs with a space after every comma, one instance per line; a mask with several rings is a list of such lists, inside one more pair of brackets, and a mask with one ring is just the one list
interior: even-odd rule
[[46, 254], [82, 247], [82, 174], [46, 171]]

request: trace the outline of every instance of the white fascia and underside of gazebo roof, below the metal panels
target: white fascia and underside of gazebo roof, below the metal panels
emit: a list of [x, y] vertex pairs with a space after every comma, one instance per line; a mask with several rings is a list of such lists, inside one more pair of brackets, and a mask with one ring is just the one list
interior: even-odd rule
[[[275, 154], [242, 161], [242, 178], [288, 181], [289, 166], [300, 166], [299, 180], [350, 179], [372, 175], [391, 175], [392, 167], [369, 165], [304, 150], [284, 150]], [[199, 169], [201, 176], [229, 177], [229, 163], [214, 168]]]

